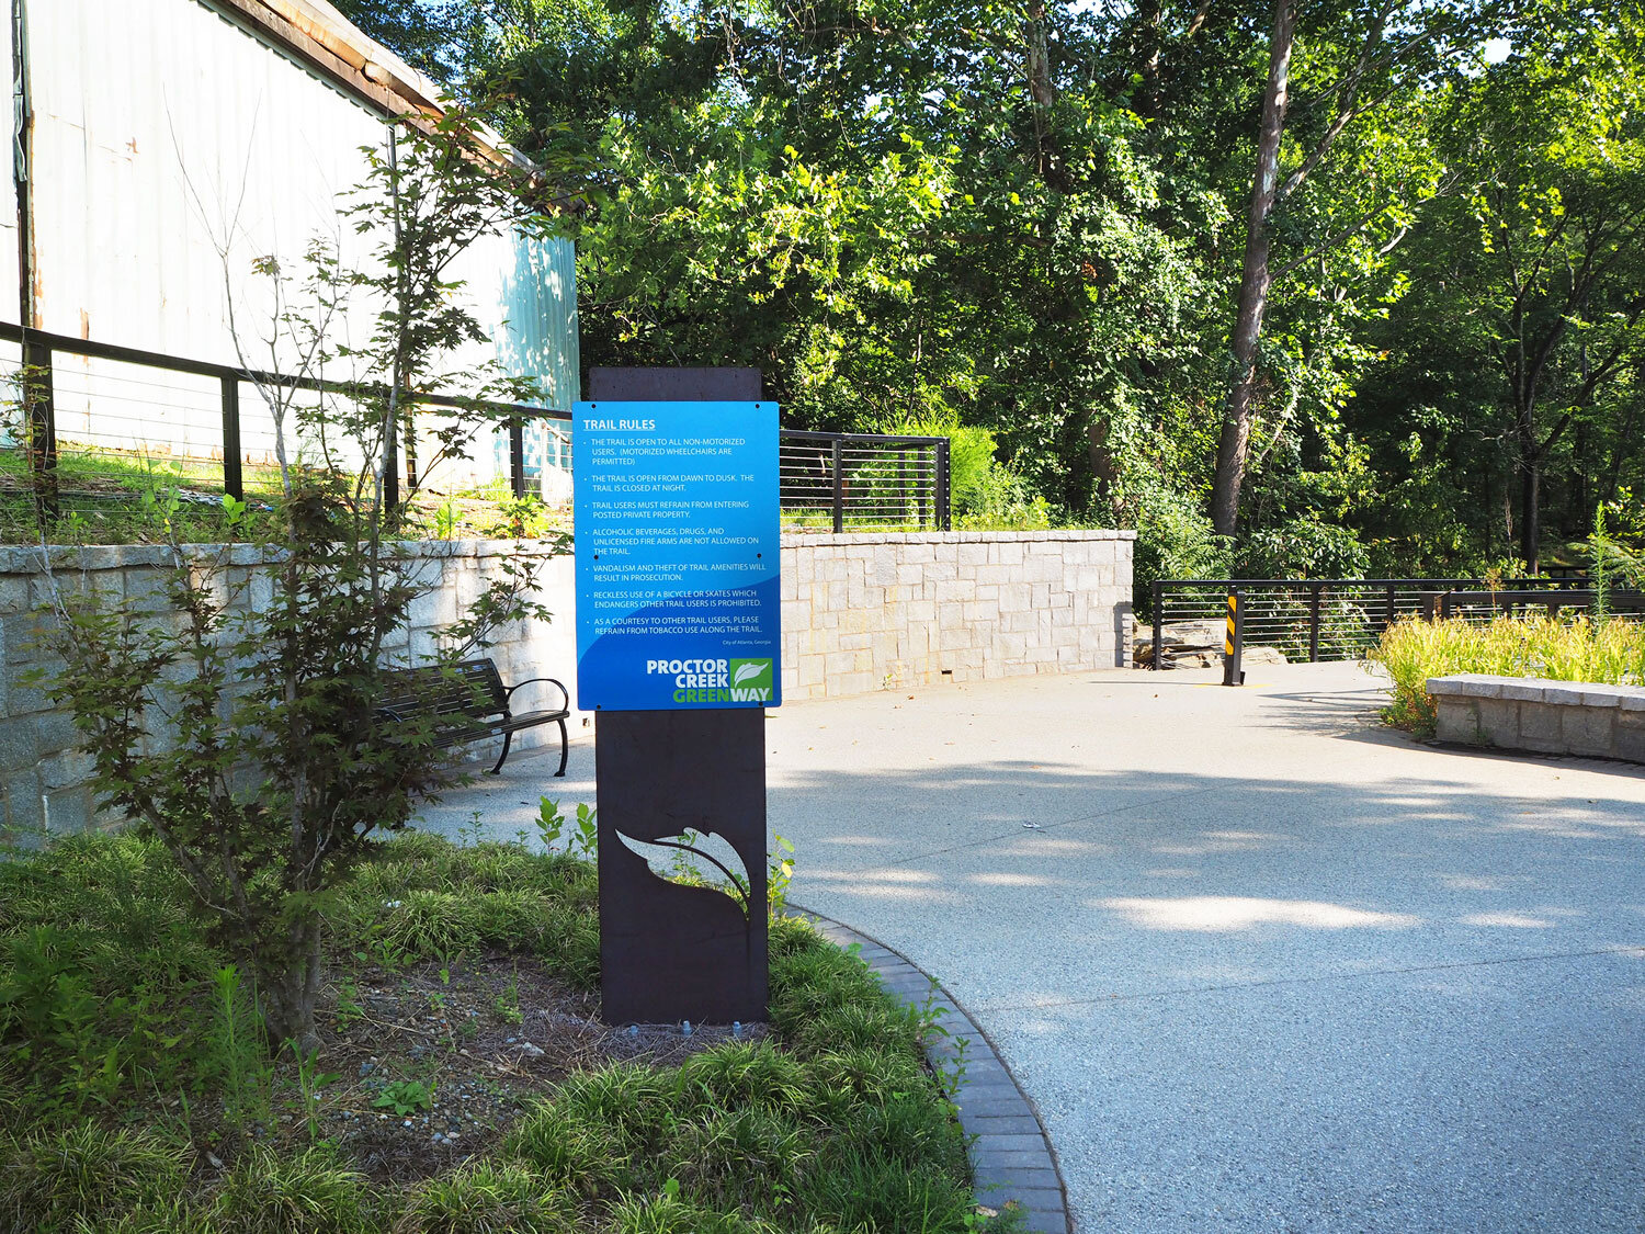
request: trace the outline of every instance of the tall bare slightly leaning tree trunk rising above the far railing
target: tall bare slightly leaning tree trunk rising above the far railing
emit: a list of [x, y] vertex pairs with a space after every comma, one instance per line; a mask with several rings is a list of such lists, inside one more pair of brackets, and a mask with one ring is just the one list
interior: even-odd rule
[[1250, 421], [1257, 388], [1257, 349], [1262, 314], [1268, 306], [1268, 214], [1280, 188], [1280, 137], [1290, 105], [1291, 48], [1296, 43], [1296, 0], [1275, 0], [1273, 41], [1268, 46], [1268, 87], [1262, 95], [1262, 130], [1257, 135], [1257, 174], [1250, 188], [1245, 227], [1245, 268], [1239, 283], [1239, 309], [1230, 342], [1232, 372], [1217, 441], [1217, 471], [1211, 487], [1211, 522], [1230, 536], [1239, 528], [1239, 494], [1250, 456]]

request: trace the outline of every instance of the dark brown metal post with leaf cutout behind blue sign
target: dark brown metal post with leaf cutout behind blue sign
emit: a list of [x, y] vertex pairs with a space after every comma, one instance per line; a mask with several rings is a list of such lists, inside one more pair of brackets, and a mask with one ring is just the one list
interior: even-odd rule
[[[757, 403], [760, 373], [755, 369], [592, 369], [589, 400], [594, 405]], [[707, 413], [709, 408], [704, 408], [704, 415]], [[572, 451], [581, 487], [582, 443], [574, 441]], [[770, 485], [775, 503], [775, 471]], [[594, 548], [584, 543], [581, 523], [577, 541], [579, 566], [584, 553], [592, 564]], [[770, 551], [775, 556], [775, 546]], [[775, 561], [768, 564], [775, 576]], [[579, 602], [581, 596], [579, 584]], [[581, 620], [579, 614], [579, 624]], [[658, 643], [665, 645], [666, 638]], [[693, 665], [701, 668], [696, 660]], [[757, 670], [747, 671], [747, 680], [755, 681], [752, 673]], [[773, 656], [773, 688], [778, 673]], [[717, 680], [697, 680], [699, 676], [702, 675], [689, 676], [688, 686], [719, 686]], [[737, 676], [735, 668], [730, 676]], [[686, 694], [688, 689], [681, 688], [681, 696]], [[599, 709], [594, 732], [599, 783], [600, 1004], [605, 1022], [763, 1020], [765, 709]], [[734, 862], [721, 862], [706, 854], [724, 872], [730, 893], [681, 885], [651, 872], [643, 852], [681, 847], [702, 852], [691, 846], [688, 833], [717, 836], [730, 846]], [[740, 870], [734, 869], [737, 864]]]

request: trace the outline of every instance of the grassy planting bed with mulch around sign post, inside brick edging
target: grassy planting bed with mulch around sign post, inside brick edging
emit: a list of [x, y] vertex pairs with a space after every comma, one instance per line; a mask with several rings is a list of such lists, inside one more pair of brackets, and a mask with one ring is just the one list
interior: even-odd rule
[[982, 1227], [928, 1014], [775, 920], [753, 1040], [607, 1030], [595, 892], [566, 856], [380, 844], [336, 895], [324, 1045], [299, 1068], [268, 1058], [255, 989], [156, 846], [13, 854], [0, 1231]]

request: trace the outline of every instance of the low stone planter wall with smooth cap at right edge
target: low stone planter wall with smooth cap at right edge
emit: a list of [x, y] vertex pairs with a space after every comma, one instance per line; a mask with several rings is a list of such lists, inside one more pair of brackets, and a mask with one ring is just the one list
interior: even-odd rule
[[1428, 694], [1443, 742], [1645, 763], [1645, 688], [1461, 673]]

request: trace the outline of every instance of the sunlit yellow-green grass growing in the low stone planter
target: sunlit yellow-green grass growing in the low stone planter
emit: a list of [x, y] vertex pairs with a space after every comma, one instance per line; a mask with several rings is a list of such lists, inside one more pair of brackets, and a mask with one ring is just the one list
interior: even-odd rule
[[1489, 625], [1462, 619], [1395, 622], [1367, 656], [1393, 684], [1383, 719], [1411, 732], [1434, 731], [1428, 678], [1453, 673], [1645, 684], [1645, 625], [1619, 619], [1569, 622], [1497, 617]]

